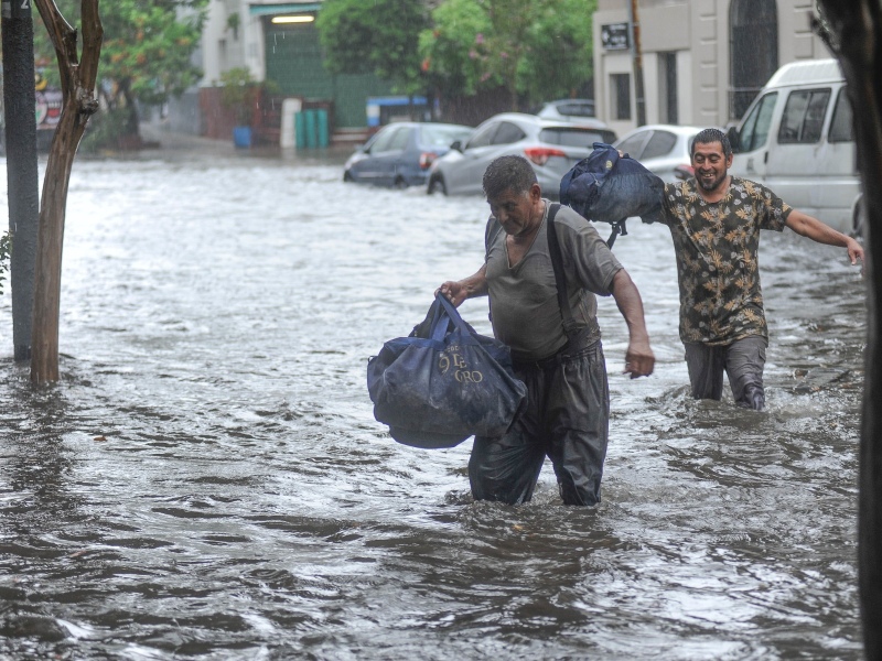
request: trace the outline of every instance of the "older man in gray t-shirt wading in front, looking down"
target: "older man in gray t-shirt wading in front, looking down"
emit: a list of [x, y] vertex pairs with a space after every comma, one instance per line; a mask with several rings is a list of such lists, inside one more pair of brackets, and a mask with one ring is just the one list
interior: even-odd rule
[[[542, 198], [526, 159], [503, 156], [491, 163], [484, 193], [492, 214], [484, 266], [465, 280], [445, 282], [440, 291], [456, 306], [490, 295], [493, 333], [512, 347], [528, 405], [504, 436], [475, 437], [469, 460], [472, 494], [478, 500], [526, 502], [548, 456], [563, 502], [596, 505], [610, 394], [594, 294], [612, 294], [625, 317], [625, 372], [634, 379], [650, 375], [655, 366], [639, 292], [588, 220]], [[551, 214], [569, 311], [558, 303], [548, 235]], [[564, 312], [573, 322], [569, 337]]]

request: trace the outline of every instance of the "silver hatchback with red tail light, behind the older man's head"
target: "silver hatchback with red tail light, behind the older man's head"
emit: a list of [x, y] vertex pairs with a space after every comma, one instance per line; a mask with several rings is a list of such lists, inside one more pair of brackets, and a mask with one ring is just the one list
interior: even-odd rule
[[480, 124], [465, 143], [454, 143], [432, 163], [428, 193], [481, 194], [490, 162], [518, 154], [530, 161], [545, 194], [557, 196], [561, 177], [591, 153], [594, 142], [613, 140], [615, 133], [596, 119], [568, 122], [520, 112], [495, 115]]

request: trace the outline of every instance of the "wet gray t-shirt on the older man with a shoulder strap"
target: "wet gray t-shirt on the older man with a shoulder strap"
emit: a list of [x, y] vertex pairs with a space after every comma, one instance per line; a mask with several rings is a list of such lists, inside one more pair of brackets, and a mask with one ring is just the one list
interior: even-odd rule
[[[493, 333], [520, 359], [541, 360], [567, 343], [558, 305], [555, 270], [548, 248], [548, 208], [524, 258], [508, 266], [506, 234], [494, 216], [485, 234], [487, 289]], [[596, 328], [594, 294], [610, 295], [613, 277], [622, 268], [594, 226], [569, 207], [561, 207], [555, 226], [563, 258], [567, 293], [578, 327]], [[600, 330], [598, 328], [598, 336]]]

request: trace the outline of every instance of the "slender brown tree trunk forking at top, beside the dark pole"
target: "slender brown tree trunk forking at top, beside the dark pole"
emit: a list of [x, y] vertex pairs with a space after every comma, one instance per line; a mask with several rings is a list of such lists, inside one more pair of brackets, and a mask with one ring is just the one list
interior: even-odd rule
[[79, 64], [77, 33], [64, 20], [54, 0], [34, 1], [55, 46], [64, 97], [46, 163], [36, 241], [31, 381], [44, 383], [58, 380], [58, 313], [67, 186], [79, 140], [89, 117], [98, 108], [95, 80], [103, 29], [98, 0], [83, 0], [83, 63]]

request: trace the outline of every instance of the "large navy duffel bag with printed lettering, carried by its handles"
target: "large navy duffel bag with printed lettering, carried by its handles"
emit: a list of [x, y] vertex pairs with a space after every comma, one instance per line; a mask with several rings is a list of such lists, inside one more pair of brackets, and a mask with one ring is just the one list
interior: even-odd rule
[[[453, 447], [501, 436], [526, 405], [508, 347], [478, 335], [441, 294], [409, 337], [390, 339], [367, 364], [374, 418], [405, 445]], [[417, 335], [423, 335], [419, 337]]]

